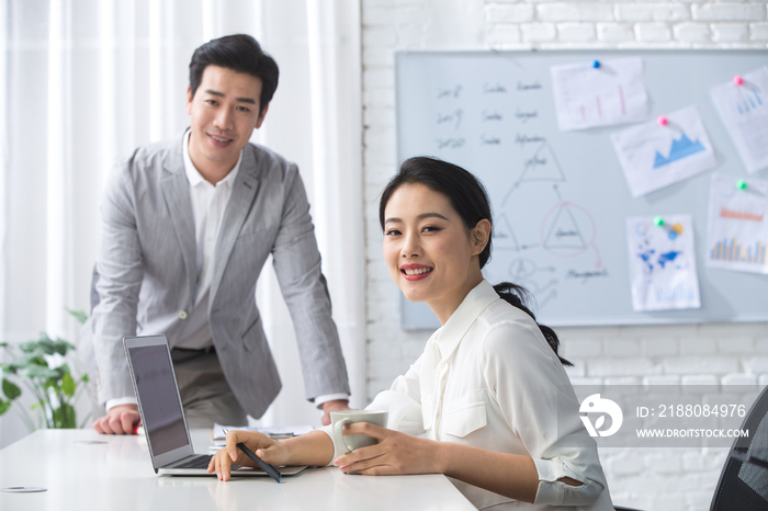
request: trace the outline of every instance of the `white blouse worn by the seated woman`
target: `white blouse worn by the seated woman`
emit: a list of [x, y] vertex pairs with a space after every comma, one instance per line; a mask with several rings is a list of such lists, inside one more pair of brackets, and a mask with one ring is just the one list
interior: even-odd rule
[[[533, 458], [534, 504], [451, 479], [479, 509], [613, 510], [597, 445], [560, 360], [530, 316], [487, 281], [366, 409], [387, 410], [389, 429]], [[581, 485], [557, 481], [563, 477]]]

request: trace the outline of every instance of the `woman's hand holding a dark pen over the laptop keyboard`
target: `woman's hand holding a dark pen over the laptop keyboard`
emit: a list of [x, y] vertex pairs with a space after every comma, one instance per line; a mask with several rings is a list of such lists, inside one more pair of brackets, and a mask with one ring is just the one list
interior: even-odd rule
[[242, 442], [264, 462], [274, 466], [285, 465], [285, 453], [280, 442], [256, 431], [229, 431], [227, 444], [211, 458], [208, 474], [216, 472], [218, 480], [229, 480], [233, 463], [244, 467], [255, 467], [251, 458], [237, 447]]

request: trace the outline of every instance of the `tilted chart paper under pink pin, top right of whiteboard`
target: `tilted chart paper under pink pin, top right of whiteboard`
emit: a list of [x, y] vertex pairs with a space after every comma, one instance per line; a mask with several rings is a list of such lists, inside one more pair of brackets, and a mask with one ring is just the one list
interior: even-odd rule
[[742, 77], [710, 92], [720, 118], [736, 146], [747, 172], [768, 167], [768, 67]]

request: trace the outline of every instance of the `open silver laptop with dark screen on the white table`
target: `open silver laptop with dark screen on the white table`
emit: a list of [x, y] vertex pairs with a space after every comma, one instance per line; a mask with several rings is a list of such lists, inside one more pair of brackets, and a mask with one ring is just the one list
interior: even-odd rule
[[[207, 473], [211, 456], [194, 454], [166, 336], [126, 337], [123, 345], [155, 473], [215, 477], [215, 473]], [[282, 476], [293, 476], [305, 468], [278, 470]], [[238, 465], [231, 466], [231, 475], [269, 477], [260, 468]]]

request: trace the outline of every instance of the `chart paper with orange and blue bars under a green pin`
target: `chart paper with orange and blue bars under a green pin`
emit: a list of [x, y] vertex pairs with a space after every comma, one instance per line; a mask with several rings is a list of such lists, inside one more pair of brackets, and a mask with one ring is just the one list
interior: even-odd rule
[[[707, 266], [768, 274], [768, 181], [713, 175]], [[768, 306], [768, 305], [767, 305]]]

